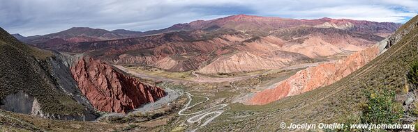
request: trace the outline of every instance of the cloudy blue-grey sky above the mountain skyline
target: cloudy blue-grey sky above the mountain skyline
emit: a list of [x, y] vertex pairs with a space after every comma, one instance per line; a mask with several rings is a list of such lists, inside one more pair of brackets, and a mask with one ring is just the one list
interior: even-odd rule
[[403, 23], [417, 13], [418, 0], [0, 0], [0, 27], [22, 35], [74, 26], [148, 31], [237, 14]]

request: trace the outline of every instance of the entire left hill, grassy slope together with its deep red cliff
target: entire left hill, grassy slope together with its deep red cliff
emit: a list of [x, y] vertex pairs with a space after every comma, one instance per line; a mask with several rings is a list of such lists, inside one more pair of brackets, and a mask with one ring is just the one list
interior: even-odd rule
[[[50, 119], [93, 120], [165, 96], [116, 67], [83, 54], [45, 51], [0, 28], [0, 108]], [[19, 104], [19, 105], [16, 105]]]

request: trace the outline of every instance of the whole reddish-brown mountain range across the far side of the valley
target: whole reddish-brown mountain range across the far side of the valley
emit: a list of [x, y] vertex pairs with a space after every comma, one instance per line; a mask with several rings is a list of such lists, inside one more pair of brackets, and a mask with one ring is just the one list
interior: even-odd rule
[[[27, 43], [41, 49], [87, 53], [115, 65], [144, 65], [174, 72], [197, 70], [202, 74], [222, 74], [280, 69], [359, 51], [385, 39], [381, 35], [393, 33], [400, 25], [350, 19], [308, 20], [234, 15], [176, 24], [144, 33], [112, 31], [115, 35], [142, 34], [137, 38], [92, 42], [50, 39]], [[82, 31], [70, 34], [78, 36], [83, 34]], [[96, 32], [84, 34], [98, 38], [105, 33], [101, 30]], [[69, 38], [64, 37], [68, 35], [61, 35], [65, 33], [69, 31], [52, 35]], [[241, 60], [257, 63], [246, 65]]]

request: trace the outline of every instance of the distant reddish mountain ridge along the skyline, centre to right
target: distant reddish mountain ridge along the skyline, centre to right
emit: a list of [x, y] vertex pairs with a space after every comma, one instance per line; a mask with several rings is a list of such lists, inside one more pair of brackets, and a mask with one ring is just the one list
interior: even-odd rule
[[359, 31], [369, 33], [392, 33], [401, 26], [388, 22], [369, 22], [357, 21], [352, 19], [287, 19], [281, 17], [260, 17], [253, 15], [232, 15], [208, 21], [197, 20], [188, 24], [176, 24], [163, 29], [168, 31], [188, 31], [188, 30], [214, 30], [218, 28], [230, 28], [237, 31], [264, 34], [281, 28], [294, 26], [316, 26], [324, 28], [338, 28], [348, 31]]

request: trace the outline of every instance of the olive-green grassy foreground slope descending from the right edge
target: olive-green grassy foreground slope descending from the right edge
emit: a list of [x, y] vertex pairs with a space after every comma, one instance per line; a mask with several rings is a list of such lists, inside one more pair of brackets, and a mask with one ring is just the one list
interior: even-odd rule
[[204, 130], [284, 131], [280, 122], [345, 122], [359, 114], [366, 101], [364, 90], [399, 92], [405, 87], [405, 73], [418, 60], [417, 26], [418, 17], [414, 17], [392, 35], [395, 38], [389, 38], [391, 47], [385, 53], [336, 83], [264, 106], [234, 104]]

